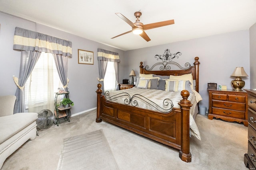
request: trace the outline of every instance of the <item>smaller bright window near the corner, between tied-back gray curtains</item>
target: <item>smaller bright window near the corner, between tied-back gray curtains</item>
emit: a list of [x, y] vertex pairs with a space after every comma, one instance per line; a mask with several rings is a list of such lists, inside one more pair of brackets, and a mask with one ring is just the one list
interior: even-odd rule
[[106, 74], [104, 77], [104, 90], [105, 92], [116, 90], [116, 72], [114, 69], [114, 62], [108, 62]]

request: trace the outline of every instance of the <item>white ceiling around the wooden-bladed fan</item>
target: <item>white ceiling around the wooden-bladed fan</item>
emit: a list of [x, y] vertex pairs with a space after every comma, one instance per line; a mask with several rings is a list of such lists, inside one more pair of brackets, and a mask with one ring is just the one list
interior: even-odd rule
[[[145, 32], [151, 41], [128, 33], [140, 10], [144, 24], [175, 24]], [[256, 23], [256, 0], [0, 0], [0, 11], [48, 25], [118, 49], [132, 50], [249, 29]], [[54, 35], [52, 35], [54, 36]]]

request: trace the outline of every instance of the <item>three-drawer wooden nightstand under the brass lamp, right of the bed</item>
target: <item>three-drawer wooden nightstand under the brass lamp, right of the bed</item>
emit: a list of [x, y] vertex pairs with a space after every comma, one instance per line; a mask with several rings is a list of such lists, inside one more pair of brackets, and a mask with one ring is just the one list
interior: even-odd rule
[[248, 126], [248, 94], [246, 91], [207, 90], [209, 93], [208, 119], [236, 121]]

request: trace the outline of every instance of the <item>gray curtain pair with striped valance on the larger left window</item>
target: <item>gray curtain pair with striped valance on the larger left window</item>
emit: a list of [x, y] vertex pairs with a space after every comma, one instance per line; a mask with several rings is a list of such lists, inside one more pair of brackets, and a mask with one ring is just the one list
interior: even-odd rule
[[22, 89], [42, 52], [52, 53], [54, 55], [60, 80], [64, 86], [67, 84], [68, 62], [67, 57], [64, 56], [72, 57], [71, 41], [16, 27], [13, 49], [21, 50], [20, 74], [18, 88], [15, 93], [17, 99], [14, 106], [14, 113], [25, 111]]

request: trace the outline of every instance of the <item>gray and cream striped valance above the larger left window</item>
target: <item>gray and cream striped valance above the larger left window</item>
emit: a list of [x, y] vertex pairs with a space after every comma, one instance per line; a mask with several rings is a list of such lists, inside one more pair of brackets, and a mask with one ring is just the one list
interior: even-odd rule
[[13, 49], [72, 57], [72, 42], [27, 29], [15, 28]]

